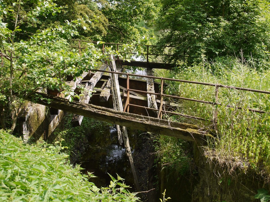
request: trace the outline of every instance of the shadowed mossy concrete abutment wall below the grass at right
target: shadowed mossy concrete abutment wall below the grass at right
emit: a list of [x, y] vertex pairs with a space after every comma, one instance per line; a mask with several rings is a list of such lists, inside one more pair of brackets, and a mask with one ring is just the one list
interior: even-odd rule
[[[258, 189], [270, 190], [261, 175], [253, 169], [234, 168], [228, 172], [214, 159], [204, 155], [203, 149], [193, 145], [193, 157], [197, 170], [184, 176], [174, 170], [160, 168], [160, 193], [166, 189], [171, 202], [259, 202], [255, 199]], [[160, 196], [161, 197], [161, 196]]]

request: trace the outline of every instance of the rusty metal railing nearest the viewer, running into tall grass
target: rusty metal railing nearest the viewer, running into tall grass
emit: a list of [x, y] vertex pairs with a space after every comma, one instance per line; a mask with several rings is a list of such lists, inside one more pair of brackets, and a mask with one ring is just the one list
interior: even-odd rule
[[[129, 73], [113, 72], [113, 71], [103, 71], [103, 70], [98, 70], [98, 69], [93, 69], [92, 71], [99, 71], [99, 72], [107, 72], [107, 73], [112, 73], [112, 74], [126, 75], [127, 76], [127, 99], [126, 99], [126, 103], [124, 105], [124, 112], [126, 112], [126, 111], [129, 112], [129, 106], [141, 107], [141, 108], [144, 108], [144, 109], [157, 111], [158, 112], [158, 117], [160, 119], [162, 119], [162, 113], [168, 113], [168, 114], [174, 114], [174, 115], [183, 116], [183, 117], [192, 118], [192, 119], [211, 121], [213, 123], [217, 122], [217, 110], [214, 110], [212, 120], [205, 119], [205, 118], [202, 118], [202, 117], [190, 116], [190, 115], [187, 115], [187, 114], [180, 114], [180, 113], [176, 113], [176, 112], [166, 111], [165, 108], [163, 109], [164, 97], [170, 97], [170, 98], [174, 98], [174, 99], [181, 99], [181, 100], [188, 100], [188, 101], [193, 101], [193, 102], [205, 103], [205, 104], [210, 104], [210, 105], [213, 105], [213, 106], [214, 105], [220, 105], [221, 106], [222, 104], [218, 103], [218, 89], [219, 88], [227, 88], [227, 89], [235, 89], [235, 90], [243, 90], [243, 91], [249, 91], [249, 92], [270, 94], [270, 91], [256, 90], [256, 89], [251, 89], [251, 88], [242, 88], [242, 87], [235, 87], [235, 86], [227, 86], [227, 85], [222, 85], [222, 84], [204, 83], [204, 82], [197, 82], [197, 81], [187, 81], [187, 80], [181, 80], [181, 79], [171, 79], [171, 78], [163, 78], [163, 77], [157, 77], [157, 76], [129, 74]], [[143, 77], [143, 78], [160, 79], [160, 85], [161, 85], [160, 93], [152, 93], [152, 92], [147, 92], [147, 91], [143, 91], [143, 90], [130, 89], [130, 87], [129, 87], [129, 77], [130, 76], [139, 76], [139, 77]], [[164, 94], [163, 93], [164, 81], [177, 81], [177, 82], [183, 82], [183, 83], [194, 83], [194, 84], [205, 85], [205, 86], [214, 86], [215, 87], [215, 102], [209, 102], [209, 101], [205, 101], [205, 100], [197, 100], [197, 99], [192, 99], [192, 98], [187, 98], [187, 97], [180, 97], [180, 96], [173, 96], [173, 95]], [[160, 107], [159, 107], [159, 109], [153, 109], [153, 108], [149, 108], [149, 107], [130, 104], [129, 103], [130, 91], [137, 92], [137, 93], [151, 94], [151, 95], [160, 96]], [[231, 105], [226, 105], [226, 107], [242, 109], [242, 107], [235, 107], [235, 106], [231, 106]], [[248, 109], [250, 111], [252, 111], [252, 112], [257, 112], [257, 113], [269, 113], [269, 112], [266, 112], [266, 111], [263, 111], [263, 110], [257, 110], [257, 109], [251, 109], [251, 108], [248, 108]]]

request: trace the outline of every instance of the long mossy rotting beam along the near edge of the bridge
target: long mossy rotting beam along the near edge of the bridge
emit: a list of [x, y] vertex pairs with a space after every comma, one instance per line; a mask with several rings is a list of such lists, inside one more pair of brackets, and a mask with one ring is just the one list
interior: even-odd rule
[[150, 133], [167, 135], [188, 141], [202, 142], [206, 136], [210, 136], [207, 132], [199, 130], [197, 126], [192, 124], [178, 123], [127, 112], [120, 112], [114, 109], [76, 101], [69, 102], [65, 98], [44, 93], [36, 94], [51, 100], [50, 104], [48, 104], [46, 100], [41, 100], [35, 95], [31, 96], [32, 98], [38, 98], [36, 102], [41, 105], [65, 110], [66, 112], [79, 114], [99, 121], [105, 121], [141, 131], [149, 131]]

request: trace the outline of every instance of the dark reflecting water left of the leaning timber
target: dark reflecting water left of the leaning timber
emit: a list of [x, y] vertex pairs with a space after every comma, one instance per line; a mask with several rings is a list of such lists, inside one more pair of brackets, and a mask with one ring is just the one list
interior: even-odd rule
[[[131, 151], [134, 152], [132, 144], [134, 143], [134, 135], [129, 135]], [[125, 149], [118, 144], [117, 131], [115, 127], [110, 127], [103, 133], [91, 134], [89, 137], [89, 146], [83, 156], [82, 168], [85, 172], [94, 172], [97, 177], [90, 180], [97, 187], [104, 187], [110, 184], [112, 175], [124, 178], [125, 184], [134, 187], [133, 175], [130, 169], [129, 159], [125, 153]], [[135, 191], [134, 188], [129, 188]]]

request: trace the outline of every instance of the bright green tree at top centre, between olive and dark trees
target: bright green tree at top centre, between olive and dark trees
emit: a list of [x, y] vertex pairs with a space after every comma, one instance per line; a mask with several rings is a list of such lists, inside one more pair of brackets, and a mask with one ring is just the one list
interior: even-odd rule
[[100, 5], [100, 11], [108, 19], [108, 30], [104, 40], [115, 43], [131, 42], [148, 35], [149, 30], [136, 25], [140, 21], [153, 25], [159, 9], [157, 0], [97, 0], [96, 2]]

